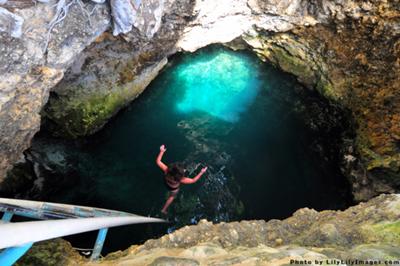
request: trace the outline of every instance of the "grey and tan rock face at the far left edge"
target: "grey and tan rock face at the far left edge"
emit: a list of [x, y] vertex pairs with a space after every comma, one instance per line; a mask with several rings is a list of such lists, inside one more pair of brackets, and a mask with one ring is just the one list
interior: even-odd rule
[[[55, 15], [54, 3], [27, 2], [7, 6], [30, 22], [23, 24], [22, 36], [0, 32], [0, 181], [39, 130], [40, 111], [50, 89], [76, 56], [110, 26], [105, 5], [93, 10], [91, 23], [78, 5], [72, 5], [68, 16], [53, 29], [44, 51], [47, 26]], [[85, 8], [92, 10], [94, 5]]]

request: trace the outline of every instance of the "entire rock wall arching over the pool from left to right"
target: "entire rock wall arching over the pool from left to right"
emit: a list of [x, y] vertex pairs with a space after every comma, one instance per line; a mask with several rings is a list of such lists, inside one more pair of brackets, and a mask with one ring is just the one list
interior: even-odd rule
[[104, 33], [107, 3], [85, 8], [93, 9], [90, 23], [72, 5], [46, 53], [52, 6], [12, 8], [32, 23], [20, 39], [1, 33], [0, 179], [39, 129], [50, 88], [47, 125], [64, 136], [92, 134], [169, 55], [225, 43], [252, 49], [351, 111], [357, 136], [343, 147], [343, 171], [356, 200], [400, 188], [398, 1], [152, 0], [122, 37]]

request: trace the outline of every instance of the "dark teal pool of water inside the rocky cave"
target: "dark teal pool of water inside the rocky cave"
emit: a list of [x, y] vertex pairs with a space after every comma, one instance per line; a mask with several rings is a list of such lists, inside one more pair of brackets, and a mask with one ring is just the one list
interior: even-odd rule
[[[36, 199], [163, 217], [167, 190], [155, 159], [165, 144], [166, 163], [183, 162], [190, 177], [203, 166], [208, 171], [181, 188], [165, 217], [170, 223], [111, 229], [103, 253], [200, 219], [279, 219], [302, 207], [344, 208], [349, 194], [338, 162], [321, 156], [337, 136], [316, 144], [322, 133], [305, 107], [318, 101], [248, 52], [214, 46], [176, 55], [96, 135], [36, 137], [32, 154], [54, 166], [52, 178], [36, 184], [46, 191]], [[67, 239], [91, 248], [95, 237]]]

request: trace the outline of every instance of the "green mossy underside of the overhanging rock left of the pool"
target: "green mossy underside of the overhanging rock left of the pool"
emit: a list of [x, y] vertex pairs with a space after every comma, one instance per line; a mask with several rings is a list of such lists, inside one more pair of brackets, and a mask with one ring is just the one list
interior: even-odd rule
[[[85, 88], [81, 84], [62, 83], [62, 94], [51, 95], [42, 112], [46, 128], [54, 135], [77, 138], [97, 132], [121, 108], [135, 99], [167, 63], [164, 59], [137, 76], [134, 63], [106, 81], [94, 81]], [[79, 82], [79, 81], [77, 81]]]

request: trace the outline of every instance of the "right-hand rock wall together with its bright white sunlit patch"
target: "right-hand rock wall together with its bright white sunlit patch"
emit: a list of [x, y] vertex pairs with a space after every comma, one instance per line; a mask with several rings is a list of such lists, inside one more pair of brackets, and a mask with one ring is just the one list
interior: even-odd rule
[[[178, 46], [253, 50], [351, 112], [356, 201], [400, 189], [399, 1], [199, 1]], [[351, 143], [353, 142], [353, 143]]]

